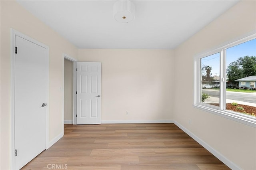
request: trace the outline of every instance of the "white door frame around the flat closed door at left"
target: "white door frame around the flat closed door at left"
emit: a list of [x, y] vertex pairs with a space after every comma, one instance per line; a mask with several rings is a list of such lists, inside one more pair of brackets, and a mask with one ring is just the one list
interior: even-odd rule
[[[10, 55], [11, 55], [11, 169], [15, 168], [15, 156], [14, 156], [14, 150], [15, 150], [15, 36], [19, 36], [21, 38], [24, 38], [25, 40], [28, 40], [32, 43], [35, 43], [37, 45], [40, 45], [41, 47], [44, 47], [46, 49], [46, 103], [49, 103], [49, 47], [41, 42], [38, 42], [37, 40], [34, 40], [33, 38], [30, 38], [29, 36], [26, 36], [25, 34], [22, 34], [21, 32], [18, 32], [14, 29], [10, 29], [10, 36], [11, 36], [11, 45], [10, 45]], [[49, 107], [46, 107], [46, 148], [49, 148]]]

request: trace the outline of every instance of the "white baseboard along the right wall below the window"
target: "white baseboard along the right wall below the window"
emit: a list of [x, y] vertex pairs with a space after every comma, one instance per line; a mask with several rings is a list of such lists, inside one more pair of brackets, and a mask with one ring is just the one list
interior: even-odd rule
[[190, 137], [192, 137], [194, 140], [196, 140], [196, 142], [198, 142], [199, 144], [201, 144], [204, 148], [206, 148], [209, 152], [211, 152], [214, 156], [216, 156], [216, 158], [218, 158], [220, 161], [222, 161], [224, 164], [226, 164], [226, 166], [228, 166], [229, 168], [231, 168], [232, 170], [241, 170], [241, 168], [239, 166], [237, 166], [236, 164], [234, 164], [233, 162], [231, 162], [230, 160], [228, 160], [225, 156], [223, 156], [222, 154], [220, 154], [220, 152], [214, 150], [214, 148], [212, 148], [211, 146], [209, 146], [206, 142], [204, 142], [203, 140], [201, 140], [200, 138], [198, 138], [196, 135], [194, 135], [192, 132], [190, 132], [188, 129], [186, 129], [185, 127], [183, 127], [182, 125], [180, 125], [178, 122], [174, 121], [174, 124], [177, 125], [181, 130], [183, 130], [184, 132], [186, 132], [186, 134], [188, 134]]

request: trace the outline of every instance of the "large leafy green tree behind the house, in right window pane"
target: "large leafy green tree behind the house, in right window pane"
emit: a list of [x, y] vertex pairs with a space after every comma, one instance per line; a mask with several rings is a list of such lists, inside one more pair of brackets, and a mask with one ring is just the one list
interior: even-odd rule
[[248, 55], [238, 58], [230, 63], [226, 70], [228, 80], [237, 83], [235, 80], [250, 75], [256, 75], [256, 57]]

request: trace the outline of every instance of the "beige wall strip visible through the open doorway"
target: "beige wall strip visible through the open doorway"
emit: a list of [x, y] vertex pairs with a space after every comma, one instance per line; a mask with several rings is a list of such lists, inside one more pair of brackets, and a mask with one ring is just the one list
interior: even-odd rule
[[65, 59], [64, 122], [73, 122], [73, 62]]

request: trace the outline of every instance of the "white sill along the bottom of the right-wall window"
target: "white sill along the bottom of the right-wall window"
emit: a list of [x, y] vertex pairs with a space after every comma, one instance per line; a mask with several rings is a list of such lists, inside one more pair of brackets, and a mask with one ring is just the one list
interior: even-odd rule
[[208, 107], [204, 104], [194, 104], [194, 107], [197, 109], [224, 117], [226, 119], [230, 119], [232, 121], [242, 123], [244, 125], [256, 127], [256, 117], [251, 117], [248, 115], [244, 115], [242, 113], [236, 113], [236, 112], [232, 112], [232, 111], [224, 111], [224, 110], [220, 110], [220, 109], [215, 109], [212, 107]]

